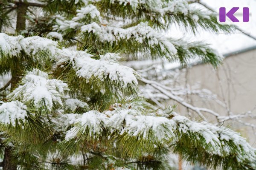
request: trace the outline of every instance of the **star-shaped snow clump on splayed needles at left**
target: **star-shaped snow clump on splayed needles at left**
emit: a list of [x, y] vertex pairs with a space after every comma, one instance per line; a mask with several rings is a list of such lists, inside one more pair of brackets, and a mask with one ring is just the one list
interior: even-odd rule
[[51, 111], [53, 105], [61, 105], [61, 96], [67, 91], [67, 84], [58, 79], [48, 79], [48, 74], [38, 69], [27, 72], [22, 83], [8, 97], [33, 102], [35, 108]]

